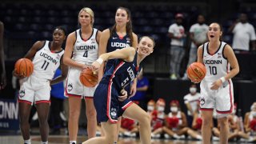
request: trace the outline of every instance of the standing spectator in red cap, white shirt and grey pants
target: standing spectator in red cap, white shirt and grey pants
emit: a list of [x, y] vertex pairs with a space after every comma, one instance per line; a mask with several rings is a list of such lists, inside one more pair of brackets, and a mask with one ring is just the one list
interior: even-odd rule
[[179, 78], [179, 70], [182, 58], [185, 55], [184, 40], [186, 38], [185, 29], [182, 26], [183, 14], [175, 15], [175, 23], [170, 25], [168, 36], [170, 42], [170, 78]]

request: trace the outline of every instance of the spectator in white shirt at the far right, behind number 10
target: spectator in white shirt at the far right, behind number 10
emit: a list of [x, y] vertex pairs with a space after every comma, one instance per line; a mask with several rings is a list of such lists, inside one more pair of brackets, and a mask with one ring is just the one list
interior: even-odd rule
[[239, 19], [234, 22], [229, 29], [230, 32], [234, 34], [232, 47], [236, 51], [249, 51], [250, 42], [252, 50], [256, 50], [255, 46], [255, 31], [254, 26], [252, 26], [248, 20], [246, 14], [240, 14]]

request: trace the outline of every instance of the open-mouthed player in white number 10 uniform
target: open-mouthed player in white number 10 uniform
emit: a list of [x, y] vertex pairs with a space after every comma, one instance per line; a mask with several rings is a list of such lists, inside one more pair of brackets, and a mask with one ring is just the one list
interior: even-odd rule
[[[202, 110], [202, 143], [210, 143], [213, 110], [218, 113], [220, 143], [227, 143], [229, 136], [228, 114], [233, 110], [233, 78], [239, 72], [237, 58], [226, 42], [220, 41], [221, 26], [214, 22], [207, 32], [209, 42], [198, 48], [198, 62], [206, 66], [206, 77], [202, 80], [200, 110]], [[230, 70], [230, 66], [232, 70]]]

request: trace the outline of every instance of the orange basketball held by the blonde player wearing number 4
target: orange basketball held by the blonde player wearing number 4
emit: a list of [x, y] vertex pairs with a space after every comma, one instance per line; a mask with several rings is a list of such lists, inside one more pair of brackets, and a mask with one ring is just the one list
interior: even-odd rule
[[94, 87], [98, 84], [98, 74], [94, 74], [90, 69], [84, 69], [80, 73], [80, 82], [83, 86]]

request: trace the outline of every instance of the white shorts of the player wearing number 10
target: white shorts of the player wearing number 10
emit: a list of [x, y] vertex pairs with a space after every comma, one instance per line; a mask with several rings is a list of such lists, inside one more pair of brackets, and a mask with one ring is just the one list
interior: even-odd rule
[[218, 114], [230, 114], [234, 106], [233, 83], [226, 81], [218, 90], [210, 90], [213, 82], [200, 83], [200, 110], [216, 110]]

